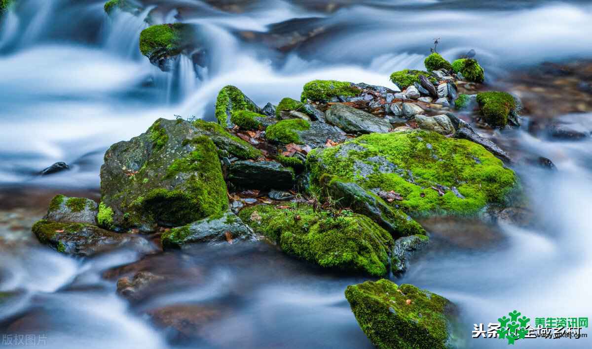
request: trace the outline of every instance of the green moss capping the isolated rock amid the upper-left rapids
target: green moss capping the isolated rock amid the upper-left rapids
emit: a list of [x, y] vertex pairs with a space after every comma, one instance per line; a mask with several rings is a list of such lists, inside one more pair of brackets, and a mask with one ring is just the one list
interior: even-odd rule
[[175, 56], [183, 49], [186, 30], [186, 24], [182, 23], [152, 25], [140, 33], [140, 52], [149, 58], [157, 51]]

